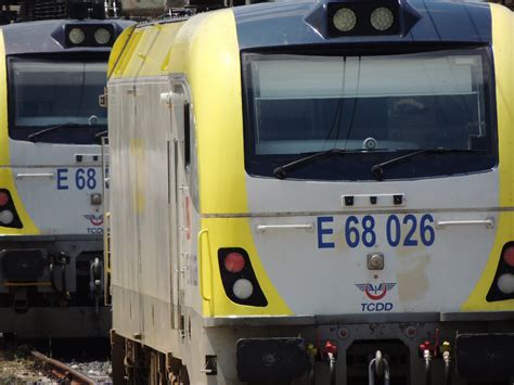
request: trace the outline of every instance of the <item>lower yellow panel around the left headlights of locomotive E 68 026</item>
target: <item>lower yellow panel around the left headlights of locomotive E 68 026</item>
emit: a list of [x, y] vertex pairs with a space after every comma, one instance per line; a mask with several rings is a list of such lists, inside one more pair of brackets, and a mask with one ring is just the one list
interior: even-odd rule
[[[207, 236], [201, 238], [198, 245], [198, 249], [202, 247], [200, 279], [203, 282], [203, 287], [201, 290], [204, 291], [202, 294], [205, 297], [211, 298], [210, 300], [203, 299], [204, 317], [290, 316], [293, 313], [274, 288], [260, 262], [247, 218], [203, 219], [202, 229], [207, 230]], [[268, 306], [239, 305], [227, 297], [218, 264], [218, 249], [221, 247], [242, 247], [248, 253]]]

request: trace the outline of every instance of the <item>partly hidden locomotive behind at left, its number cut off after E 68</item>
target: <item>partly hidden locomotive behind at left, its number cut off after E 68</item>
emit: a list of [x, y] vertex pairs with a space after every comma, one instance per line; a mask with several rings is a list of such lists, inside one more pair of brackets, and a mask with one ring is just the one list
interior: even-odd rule
[[[25, 12], [50, 17], [40, 14], [50, 5], [38, 2]], [[83, 17], [91, 4], [72, 5], [85, 9]], [[111, 47], [130, 24], [38, 20], [0, 29], [2, 333], [108, 333], [100, 146], [107, 117], [99, 95]]]

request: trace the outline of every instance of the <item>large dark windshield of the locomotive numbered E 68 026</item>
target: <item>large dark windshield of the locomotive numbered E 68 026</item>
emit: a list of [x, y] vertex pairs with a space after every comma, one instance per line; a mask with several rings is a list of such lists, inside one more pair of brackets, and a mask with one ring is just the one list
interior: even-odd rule
[[[391, 178], [494, 166], [487, 49], [374, 56], [243, 54], [246, 169], [273, 169], [340, 149], [292, 172], [306, 179], [373, 179], [372, 165], [422, 149]], [[423, 167], [420, 167], [423, 165]]]

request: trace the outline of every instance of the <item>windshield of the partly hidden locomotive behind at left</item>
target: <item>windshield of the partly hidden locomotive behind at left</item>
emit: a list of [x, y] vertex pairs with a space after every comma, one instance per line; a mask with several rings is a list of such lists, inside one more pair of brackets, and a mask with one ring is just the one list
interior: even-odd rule
[[[38, 142], [98, 143], [107, 127], [104, 92], [106, 62], [11, 57], [10, 137]], [[52, 128], [42, 133], [42, 129]]]

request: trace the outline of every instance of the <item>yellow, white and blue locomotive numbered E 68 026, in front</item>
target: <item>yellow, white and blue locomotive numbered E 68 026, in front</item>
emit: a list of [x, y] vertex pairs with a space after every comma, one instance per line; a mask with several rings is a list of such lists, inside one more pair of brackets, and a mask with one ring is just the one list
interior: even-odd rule
[[514, 16], [262, 3], [110, 60], [115, 382], [514, 377]]

